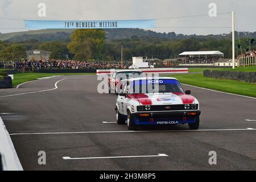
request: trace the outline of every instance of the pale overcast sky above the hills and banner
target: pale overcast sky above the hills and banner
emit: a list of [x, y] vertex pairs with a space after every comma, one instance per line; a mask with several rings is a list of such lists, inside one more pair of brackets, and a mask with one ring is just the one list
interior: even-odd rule
[[[38, 4], [46, 4], [46, 17], [38, 16]], [[173, 16], [208, 14], [209, 3], [216, 3], [217, 13], [235, 11], [239, 31], [256, 31], [255, 0], [0, 0], [0, 32], [25, 31], [24, 22], [1, 18], [38, 20], [121, 20], [156, 19]], [[193, 18], [156, 20], [157, 32], [180, 34], [222, 34], [231, 28], [174, 28], [174, 27], [231, 27], [231, 14]], [[6, 29], [12, 28], [12, 29]]]

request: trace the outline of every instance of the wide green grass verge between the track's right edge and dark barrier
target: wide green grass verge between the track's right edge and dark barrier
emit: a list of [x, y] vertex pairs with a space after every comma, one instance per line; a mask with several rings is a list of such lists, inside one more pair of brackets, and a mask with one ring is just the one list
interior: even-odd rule
[[196, 73], [193, 74], [193, 76], [172, 75], [172, 77], [177, 78], [183, 84], [199, 86], [222, 92], [240, 94], [243, 96], [256, 97], [256, 84], [250, 84], [248, 82], [209, 78], [204, 77], [202, 73]]

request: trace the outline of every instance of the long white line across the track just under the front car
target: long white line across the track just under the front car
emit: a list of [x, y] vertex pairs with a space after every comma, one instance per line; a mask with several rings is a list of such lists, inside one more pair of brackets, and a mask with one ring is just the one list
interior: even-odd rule
[[213, 130], [152, 130], [152, 131], [77, 131], [77, 132], [49, 132], [49, 133], [13, 133], [10, 135], [54, 135], [54, 134], [88, 134], [88, 133], [152, 133], [152, 132], [180, 132], [180, 131], [246, 131], [256, 129], [213, 129]]

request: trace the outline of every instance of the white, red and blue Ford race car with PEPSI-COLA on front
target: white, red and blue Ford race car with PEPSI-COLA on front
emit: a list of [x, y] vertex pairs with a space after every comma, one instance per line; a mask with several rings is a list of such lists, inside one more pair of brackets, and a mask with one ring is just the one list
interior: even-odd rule
[[199, 102], [184, 92], [179, 81], [171, 77], [133, 78], [123, 85], [115, 102], [118, 124], [127, 121], [129, 130], [138, 125], [176, 125], [188, 123], [199, 128]]

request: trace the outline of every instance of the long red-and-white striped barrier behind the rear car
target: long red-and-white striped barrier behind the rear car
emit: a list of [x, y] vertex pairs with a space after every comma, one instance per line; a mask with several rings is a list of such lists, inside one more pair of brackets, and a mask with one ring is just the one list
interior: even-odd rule
[[171, 74], [188, 73], [188, 68], [97, 69], [96, 73], [97, 75], [110, 75], [114, 71], [142, 71], [143, 73]]

